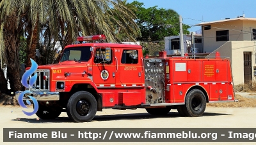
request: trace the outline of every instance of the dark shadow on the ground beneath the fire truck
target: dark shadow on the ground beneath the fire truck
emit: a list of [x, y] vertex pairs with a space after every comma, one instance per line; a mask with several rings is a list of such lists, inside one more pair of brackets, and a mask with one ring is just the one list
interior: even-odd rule
[[[230, 115], [224, 113], [204, 113], [201, 117], [207, 116], [223, 116]], [[113, 121], [113, 120], [145, 120], [155, 118], [189, 118], [188, 116], [180, 116], [177, 112], [170, 112], [166, 115], [152, 115], [148, 113], [131, 113], [131, 114], [111, 114], [111, 115], [96, 115], [92, 121]], [[17, 118], [12, 121], [23, 121], [27, 123], [74, 123], [68, 117], [59, 117], [55, 120], [36, 120], [36, 118]]]

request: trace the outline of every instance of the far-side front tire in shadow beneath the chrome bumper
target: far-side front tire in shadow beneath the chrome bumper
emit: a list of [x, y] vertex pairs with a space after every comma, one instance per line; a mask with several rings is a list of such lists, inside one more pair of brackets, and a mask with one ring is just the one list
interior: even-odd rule
[[58, 116], [60, 116], [62, 108], [60, 107], [47, 107], [38, 103], [38, 111], [36, 112], [36, 116], [41, 118], [42, 120], [54, 120]]

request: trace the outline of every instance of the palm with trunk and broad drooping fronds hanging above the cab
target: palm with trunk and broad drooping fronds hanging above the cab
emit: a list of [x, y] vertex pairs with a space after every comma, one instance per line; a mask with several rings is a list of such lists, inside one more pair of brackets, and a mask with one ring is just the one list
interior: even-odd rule
[[[25, 0], [23, 0], [25, 1]], [[121, 0], [55, 0], [55, 1], [25, 1], [23, 4], [24, 21], [28, 34], [28, 62], [35, 60], [38, 32], [42, 32], [47, 24], [55, 39], [60, 39], [62, 46], [76, 40], [79, 31], [84, 35], [105, 34], [108, 41], [121, 41], [116, 34], [116, 27], [125, 34], [138, 35], [138, 27], [134, 22], [136, 16]], [[33, 13], [31, 13], [31, 11]], [[40, 30], [41, 29], [41, 30]]]

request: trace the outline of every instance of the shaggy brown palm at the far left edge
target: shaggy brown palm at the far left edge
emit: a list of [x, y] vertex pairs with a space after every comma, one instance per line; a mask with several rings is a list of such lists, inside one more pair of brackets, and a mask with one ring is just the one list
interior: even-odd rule
[[[19, 38], [22, 25], [19, 1], [0, 2], [0, 39], [2, 64], [7, 65], [7, 76], [11, 90], [21, 90], [19, 74]], [[1, 80], [3, 81], [3, 80]]]

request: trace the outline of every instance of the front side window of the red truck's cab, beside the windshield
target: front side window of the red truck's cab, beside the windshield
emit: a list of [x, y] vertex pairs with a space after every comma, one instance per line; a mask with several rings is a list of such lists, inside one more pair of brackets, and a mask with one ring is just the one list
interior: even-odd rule
[[110, 56], [110, 62], [106, 62], [106, 49], [105, 48], [97, 48], [95, 52], [94, 62], [99, 64], [111, 64], [112, 63], [112, 50]]

